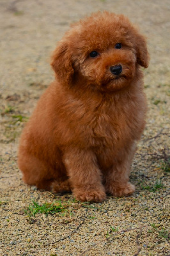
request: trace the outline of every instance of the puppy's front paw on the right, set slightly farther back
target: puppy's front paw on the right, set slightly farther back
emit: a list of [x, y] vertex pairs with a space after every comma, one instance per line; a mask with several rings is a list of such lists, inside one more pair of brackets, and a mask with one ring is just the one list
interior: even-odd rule
[[118, 186], [118, 184], [112, 184], [110, 186], [108, 186], [107, 192], [111, 193], [112, 196], [128, 196], [131, 195], [132, 193], [134, 193], [135, 191], [135, 186], [130, 183], [127, 182], [125, 184], [121, 184], [120, 186]]

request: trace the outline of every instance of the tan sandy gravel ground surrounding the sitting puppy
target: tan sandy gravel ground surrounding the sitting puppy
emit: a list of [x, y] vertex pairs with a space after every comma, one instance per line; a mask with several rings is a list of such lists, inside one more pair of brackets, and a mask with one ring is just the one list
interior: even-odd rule
[[[0, 4], [0, 254], [169, 255], [169, 0]], [[24, 184], [16, 163], [17, 146], [38, 98], [54, 79], [49, 56], [56, 42], [70, 23], [97, 10], [124, 13], [148, 36], [148, 120], [132, 164], [134, 195], [80, 204], [71, 194], [56, 196]], [[54, 202], [62, 212], [31, 214], [33, 201]]]

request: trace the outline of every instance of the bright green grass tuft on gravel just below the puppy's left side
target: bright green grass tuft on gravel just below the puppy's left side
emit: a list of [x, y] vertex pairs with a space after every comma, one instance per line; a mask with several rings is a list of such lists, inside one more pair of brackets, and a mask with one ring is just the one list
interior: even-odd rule
[[61, 204], [61, 202], [52, 202], [52, 204], [44, 203], [42, 205], [32, 200], [32, 203], [29, 204], [29, 207], [25, 210], [25, 213], [29, 216], [35, 216], [37, 213], [42, 213], [45, 215], [55, 214], [58, 212], [64, 212], [65, 207]]

